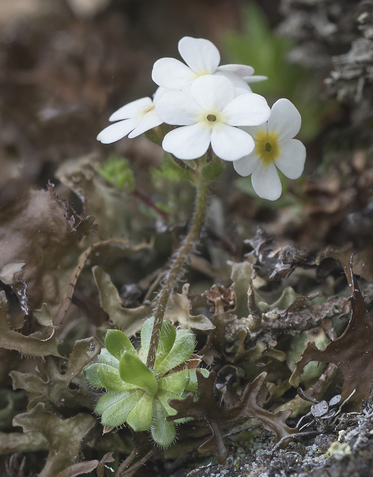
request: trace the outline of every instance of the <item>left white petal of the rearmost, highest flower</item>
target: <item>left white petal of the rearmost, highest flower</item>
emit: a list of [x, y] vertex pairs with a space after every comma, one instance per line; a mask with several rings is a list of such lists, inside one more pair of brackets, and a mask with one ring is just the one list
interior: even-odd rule
[[163, 88], [176, 89], [190, 85], [195, 73], [176, 58], [161, 58], [154, 63], [152, 79]]

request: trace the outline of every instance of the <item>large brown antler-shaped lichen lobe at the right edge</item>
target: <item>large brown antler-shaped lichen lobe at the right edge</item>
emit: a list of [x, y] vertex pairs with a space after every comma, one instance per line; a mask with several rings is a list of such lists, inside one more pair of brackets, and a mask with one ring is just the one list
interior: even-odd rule
[[351, 254], [340, 253], [338, 257], [345, 270], [351, 291], [350, 322], [344, 333], [329, 343], [324, 350], [318, 350], [314, 342], [308, 343], [301, 359], [295, 363], [295, 369], [289, 382], [293, 386], [297, 386], [302, 370], [310, 361], [335, 363], [343, 372], [343, 398], [355, 391], [349, 402], [352, 407], [359, 409], [362, 400], [366, 398], [371, 389], [373, 379], [371, 359], [373, 322], [352, 271]]

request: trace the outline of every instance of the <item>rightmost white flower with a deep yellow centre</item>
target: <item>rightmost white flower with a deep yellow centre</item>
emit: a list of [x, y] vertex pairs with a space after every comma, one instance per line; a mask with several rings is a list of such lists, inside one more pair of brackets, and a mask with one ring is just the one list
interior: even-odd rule
[[306, 148], [293, 137], [299, 132], [301, 118], [289, 100], [282, 98], [273, 105], [267, 122], [245, 127], [254, 137], [254, 151], [235, 161], [233, 167], [241, 176], [251, 176], [255, 192], [262, 199], [277, 200], [282, 192], [276, 167], [289, 179], [300, 177], [306, 159]]

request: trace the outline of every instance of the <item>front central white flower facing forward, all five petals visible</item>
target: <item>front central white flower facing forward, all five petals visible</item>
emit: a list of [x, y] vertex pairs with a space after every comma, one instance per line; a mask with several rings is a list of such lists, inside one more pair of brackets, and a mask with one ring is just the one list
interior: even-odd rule
[[254, 149], [253, 138], [235, 126], [262, 124], [270, 115], [267, 101], [254, 93], [236, 97], [224, 76], [204, 75], [182, 91], [166, 92], [157, 102], [157, 115], [167, 124], [181, 125], [166, 134], [162, 147], [179, 159], [202, 156], [210, 142], [221, 159], [235, 161]]

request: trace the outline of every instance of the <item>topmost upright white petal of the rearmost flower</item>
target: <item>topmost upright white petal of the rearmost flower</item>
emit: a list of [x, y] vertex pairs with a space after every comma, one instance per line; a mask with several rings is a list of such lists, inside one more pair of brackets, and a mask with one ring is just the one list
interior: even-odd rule
[[179, 52], [197, 74], [213, 74], [220, 63], [220, 53], [210, 40], [185, 36], [179, 41]]

